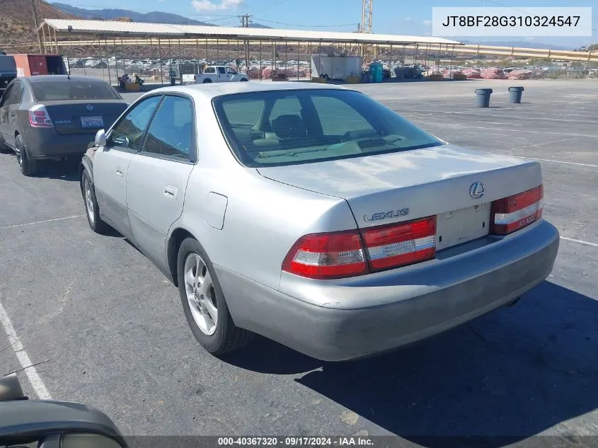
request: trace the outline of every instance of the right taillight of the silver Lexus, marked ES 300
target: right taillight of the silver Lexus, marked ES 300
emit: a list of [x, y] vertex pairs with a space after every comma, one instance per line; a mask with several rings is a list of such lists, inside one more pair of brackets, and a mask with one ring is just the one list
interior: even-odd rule
[[539, 185], [523, 193], [495, 200], [490, 212], [490, 233], [510, 234], [540, 219], [543, 198], [544, 187]]

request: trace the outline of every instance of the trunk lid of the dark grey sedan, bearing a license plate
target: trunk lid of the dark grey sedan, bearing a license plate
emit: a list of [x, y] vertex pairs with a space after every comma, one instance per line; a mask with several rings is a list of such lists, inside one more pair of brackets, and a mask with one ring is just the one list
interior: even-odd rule
[[59, 134], [95, 134], [107, 129], [127, 108], [122, 100], [43, 101]]

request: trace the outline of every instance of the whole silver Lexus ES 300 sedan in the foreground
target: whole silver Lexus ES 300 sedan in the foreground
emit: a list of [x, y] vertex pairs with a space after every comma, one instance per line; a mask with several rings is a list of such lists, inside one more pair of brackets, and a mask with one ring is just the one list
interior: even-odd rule
[[513, 304], [558, 251], [539, 163], [324, 84], [151, 91], [98, 132], [81, 191], [214, 355], [254, 333], [321, 360], [393, 350]]

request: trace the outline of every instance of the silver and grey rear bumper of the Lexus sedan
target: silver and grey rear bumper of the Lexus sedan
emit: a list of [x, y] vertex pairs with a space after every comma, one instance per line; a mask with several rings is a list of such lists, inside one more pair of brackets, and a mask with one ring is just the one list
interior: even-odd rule
[[408, 345], [508, 304], [548, 277], [558, 243], [557, 229], [541, 221], [504, 239], [466, 243], [477, 245], [469, 251], [451, 248], [437, 260], [350, 281], [283, 276], [286, 294], [216, 268], [237, 326], [340, 361]]

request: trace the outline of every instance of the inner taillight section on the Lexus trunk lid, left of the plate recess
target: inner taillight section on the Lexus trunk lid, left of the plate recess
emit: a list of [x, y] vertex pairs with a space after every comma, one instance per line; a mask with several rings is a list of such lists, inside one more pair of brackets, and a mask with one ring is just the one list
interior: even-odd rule
[[430, 260], [436, 255], [436, 217], [362, 231], [372, 270]]

